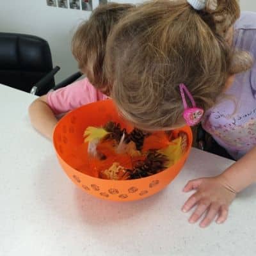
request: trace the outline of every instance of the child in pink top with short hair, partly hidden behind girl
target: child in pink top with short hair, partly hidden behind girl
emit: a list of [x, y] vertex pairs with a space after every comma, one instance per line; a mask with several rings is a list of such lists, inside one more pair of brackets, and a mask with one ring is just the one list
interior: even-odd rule
[[103, 62], [109, 33], [132, 4], [108, 3], [93, 10], [72, 39], [72, 53], [86, 78], [36, 99], [29, 106], [32, 125], [49, 139], [58, 120], [56, 115], [67, 113], [85, 104], [107, 99], [109, 84]]

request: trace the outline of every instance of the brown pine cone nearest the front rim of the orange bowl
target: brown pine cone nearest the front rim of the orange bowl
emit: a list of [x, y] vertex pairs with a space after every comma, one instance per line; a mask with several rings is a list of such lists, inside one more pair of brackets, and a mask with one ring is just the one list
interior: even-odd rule
[[140, 179], [163, 171], [166, 167], [164, 164], [168, 158], [163, 154], [151, 151], [147, 154], [145, 161], [136, 164], [130, 175], [130, 179]]

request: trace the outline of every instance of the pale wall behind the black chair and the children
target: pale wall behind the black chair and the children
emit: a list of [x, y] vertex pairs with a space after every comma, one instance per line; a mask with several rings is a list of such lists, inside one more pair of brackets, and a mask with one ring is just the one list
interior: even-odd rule
[[[117, 3], [140, 3], [142, 0], [115, 0]], [[46, 0], [0, 0], [0, 31], [28, 33], [41, 36], [49, 42], [54, 65], [61, 67], [56, 76], [58, 83], [77, 71], [76, 61], [70, 52], [70, 40], [81, 20], [90, 12], [54, 8]], [[241, 0], [242, 10], [256, 12], [255, 0]], [[98, 0], [93, 0], [97, 5]]]

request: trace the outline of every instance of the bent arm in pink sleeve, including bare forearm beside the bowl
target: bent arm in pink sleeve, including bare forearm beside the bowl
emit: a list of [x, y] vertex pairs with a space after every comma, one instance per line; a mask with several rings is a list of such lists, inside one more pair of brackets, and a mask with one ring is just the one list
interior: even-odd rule
[[107, 99], [106, 95], [84, 78], [36, 99], [29, 106], [31, 123], [38, 132], [52, 140], [54, 127], [58, 122], [56, 115], [103, 99]]

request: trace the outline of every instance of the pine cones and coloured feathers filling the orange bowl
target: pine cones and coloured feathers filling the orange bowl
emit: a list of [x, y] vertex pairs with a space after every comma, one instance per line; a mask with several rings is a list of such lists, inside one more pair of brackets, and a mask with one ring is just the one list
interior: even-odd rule
[[88, 164], [93, 177], [106, 180], [140, 179], [162, 172], [188, 149], [183, 131], [127, 132], [119, 123], [87, 127]]

